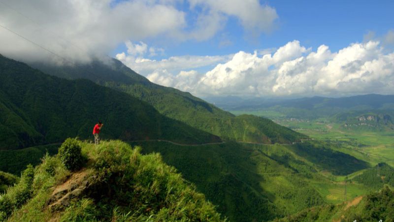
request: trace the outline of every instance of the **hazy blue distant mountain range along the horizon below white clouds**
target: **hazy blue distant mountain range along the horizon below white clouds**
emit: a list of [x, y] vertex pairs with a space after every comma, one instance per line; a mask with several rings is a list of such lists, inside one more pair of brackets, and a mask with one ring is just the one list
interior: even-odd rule
[[[208, 101], [229, 111], [269, 111], [267, 117], [316, 119], [353, 111], [394, 111], [394, 95], [368, 94], [360, 96], [299, 99], [241, 99], [237, 97], [210, 97]], [[272, 115], [272, 112], [275, 115]], [[262, 113], [264, 115], [264, 113]]]

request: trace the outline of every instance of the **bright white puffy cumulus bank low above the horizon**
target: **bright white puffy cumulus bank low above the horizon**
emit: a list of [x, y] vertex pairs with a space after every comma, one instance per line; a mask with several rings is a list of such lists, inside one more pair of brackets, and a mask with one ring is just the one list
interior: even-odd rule
[[240, 51], [205, 73], [165, 71], [147, 76], [197, 96], [393, 94], [393, 61], [394, 52], [385, 53], [379, 41], [331, 52], [327, 45], [313, 51], [294, 40], [261, 56]]

